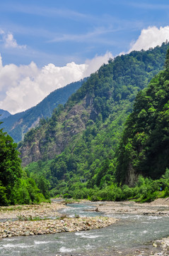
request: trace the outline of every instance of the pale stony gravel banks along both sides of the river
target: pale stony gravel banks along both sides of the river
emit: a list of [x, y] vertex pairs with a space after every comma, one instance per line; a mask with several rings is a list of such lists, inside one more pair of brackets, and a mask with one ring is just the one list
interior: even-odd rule
[[[66, 215], [62, 215], [58, 212], [63, 208], [67, 208], [63, 201], [52, 201], [52, 203], [42, 203], [37, 206], [8, 206], [0, 208], [0, 237], [10, 239], [13, 236], [34, 236], [42, 234], [54, 234], [80, 230], [92, 230], [95, 228], [104, 228], [112, 224], [114, 230], [117, 215], [148, 215], [147, 218], [168, 218], [169, 216], [169, 200], [158, 199], [151, 203], [134, 203], [134, 202], [93, 202], [81, 201], [80, 204], [90, 204], [88, 211], [95, 211], [103, 213], [107, 217], [83, 217], [83, 218], [67, 218]], [[70, 205], [69, 205], [70, 206]], [[66, 209], [65, 209], [66, 210]], [[66, 211], [65, 211], [66, 212]], [[63, 211], [62, 211], [63, 213]], [[110, 216], [111, 215], [111, 216]], [[110, 217], [110, 218], [109, 218]], [[53, 218], [53, 219], [49, 219]], [[135, 224], [134, 224], [135, 225]], [[114, 228], [113, 228], [114, 227]], [[161, 226], [163, 228], [163, 226]], [[104, 230], [104, 229], [103, 229]], [[85, 232], [85, 231], [84, 231]], [[97, 231], [98, 233], [98, 231]], [[41, 236], [40, 236], [41, 237]], [[0, 253], [1, 255], [1, 253]], [[55, 254], [56, 255], [56, 254]], [[54, 256], [55, 256], [54, 255]], [[76, 256], [83, 255], [76, 252], [62, 252], [58, 255], [62, 256]], [[161, 240], [151, 241], [144, 245], [136, 247], [126, 248], [124, 250], [103, 250], [98, 252], [90, 252], [86, 254], [88, 256], [100, 256], [100, 255], [124, 255], [124, 256], [166, 256], [169, 255], [169, 238], [163, 238]]]

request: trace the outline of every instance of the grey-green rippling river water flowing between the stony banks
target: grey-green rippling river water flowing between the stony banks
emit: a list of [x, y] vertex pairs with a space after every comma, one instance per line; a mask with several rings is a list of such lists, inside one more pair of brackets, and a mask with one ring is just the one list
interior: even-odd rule
[[[64, 208], [63, 214], [94, 216], [92, 203], [78, 203]], [[103, 215], [103, 214], [102, 214]], [[119, 221], [107, 228], [57, 233], [0, 240], [0, 255], [6, 256], [56, 256], [56, 255], [110, 255], [130, 247], [146, 245], [148, 242], [169, 235], [169, 217], [152, 215], [109, 215]], [[103, 254], [104, 252], [104, 254]], [[107, 252], [107, 254], [106, 254]], [[112, 255], [112, 254], [111, 254]]]

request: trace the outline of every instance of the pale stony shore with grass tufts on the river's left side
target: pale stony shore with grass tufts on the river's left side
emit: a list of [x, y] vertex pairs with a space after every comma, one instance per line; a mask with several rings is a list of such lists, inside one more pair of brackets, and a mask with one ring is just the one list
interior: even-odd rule
[[0, 238], [105, 228], [117, 221], [115, 218], [107, 217], [78, 218], [76, 216], [75, 218], [67, 218], [58, 212], [64, 207], [65, 204], [62, 202], [41, 203], [34, 206], [1, 207]]

